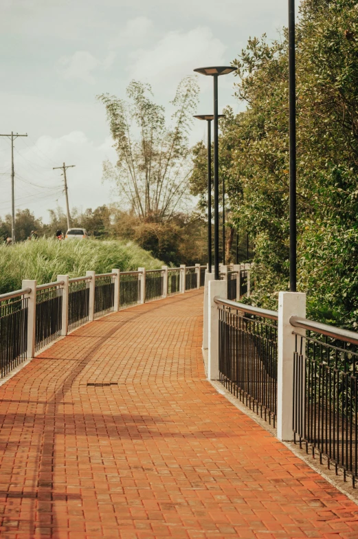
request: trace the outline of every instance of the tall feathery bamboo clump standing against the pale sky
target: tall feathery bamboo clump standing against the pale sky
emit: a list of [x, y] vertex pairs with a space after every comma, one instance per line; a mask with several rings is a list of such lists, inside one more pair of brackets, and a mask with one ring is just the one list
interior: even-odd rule
[[171, 104], [172, 126], [164, 107], [153, 101], [150, 85], [133, 80], [128, 100], [102, 94], [118, 154], [115, 165], [104, 163], [104, 177], [115, 181], [127, 207], [141, 221], [170, 219], [188, 192], [191, 170], [188, 133], [197, 106], [196, 79], [184, 78]]

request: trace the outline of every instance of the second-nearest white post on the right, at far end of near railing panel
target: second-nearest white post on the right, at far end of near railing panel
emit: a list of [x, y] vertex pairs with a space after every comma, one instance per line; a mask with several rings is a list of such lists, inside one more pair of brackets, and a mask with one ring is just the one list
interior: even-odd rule
[[219, 380], [219, 309], [214, 303], [214, 297], [226, 299], [225, 281], [209, 281], [208, 296], [208, 380]]

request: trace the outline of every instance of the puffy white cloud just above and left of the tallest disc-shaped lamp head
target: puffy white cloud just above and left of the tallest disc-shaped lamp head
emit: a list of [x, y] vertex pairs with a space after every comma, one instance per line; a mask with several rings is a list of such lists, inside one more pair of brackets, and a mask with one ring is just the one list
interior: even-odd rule
[[226, 50], [210, 28], [198, 27], [188, 32], [168, 32], [150, 49], [133, 52], [128, 69], [131, 78], [159, 80], [161, 83], [192, 73], [194, 67], [221, 63]]

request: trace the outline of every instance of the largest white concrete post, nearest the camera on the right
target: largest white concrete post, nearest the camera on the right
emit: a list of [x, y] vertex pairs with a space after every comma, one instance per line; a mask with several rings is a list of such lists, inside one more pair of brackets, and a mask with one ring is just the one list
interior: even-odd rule
[[[289, 323], [291, 316], [306, 318], [306, 294], [280, 292], [278, 294], [278, 373], [277, 373], [277, 437], [292, 441], [293, 415], [293, 354], [295, 336]], [[294, 328], [305, 335], [304, 329]]]

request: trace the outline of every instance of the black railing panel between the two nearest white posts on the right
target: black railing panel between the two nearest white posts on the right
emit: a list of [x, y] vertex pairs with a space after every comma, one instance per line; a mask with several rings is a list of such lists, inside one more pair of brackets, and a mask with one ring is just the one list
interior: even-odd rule
[[277, 415], [275, 311], [215, 298], [219, 308], [219, 375], [231, 393], [265, 421]]

